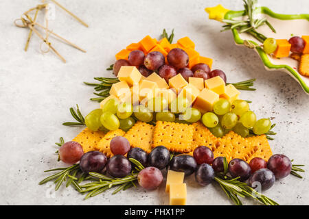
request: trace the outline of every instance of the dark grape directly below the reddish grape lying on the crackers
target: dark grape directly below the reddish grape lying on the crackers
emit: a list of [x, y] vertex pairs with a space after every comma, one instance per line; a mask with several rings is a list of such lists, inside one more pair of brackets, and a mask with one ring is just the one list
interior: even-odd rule
[[132, 170], [131, 163], [124, 155], [114, 155], [107, 163], [106, 170], [113, 177], [126, 177]]

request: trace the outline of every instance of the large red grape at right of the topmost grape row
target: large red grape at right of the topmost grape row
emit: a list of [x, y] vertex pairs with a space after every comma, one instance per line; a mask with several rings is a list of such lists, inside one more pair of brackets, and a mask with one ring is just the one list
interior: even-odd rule
[[185, 68], [189, 64], [189, 56], [185, 51], [174, 48], [168, 53], [168, 63], [175, 68]]

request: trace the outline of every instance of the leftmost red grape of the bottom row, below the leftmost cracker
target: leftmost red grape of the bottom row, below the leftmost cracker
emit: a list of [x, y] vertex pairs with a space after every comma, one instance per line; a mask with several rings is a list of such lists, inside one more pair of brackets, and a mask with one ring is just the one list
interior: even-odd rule
[[59, 149], [59, 156], [62, 162], [66, 164], [75, 164], [84, 155], [82, 146], [78, 142], [67, 142], [62, 144]]

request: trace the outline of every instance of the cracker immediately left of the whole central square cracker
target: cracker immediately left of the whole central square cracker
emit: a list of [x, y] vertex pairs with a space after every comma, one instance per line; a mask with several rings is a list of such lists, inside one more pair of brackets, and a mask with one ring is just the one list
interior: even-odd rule
[[124, 137], [128, 139], [131, 147], [139, 147], [147, 153], [150, 153], [152, 149], [151, 142], [154, 128], [153, 125], [138, 121], [129, 131], [127, 131]]

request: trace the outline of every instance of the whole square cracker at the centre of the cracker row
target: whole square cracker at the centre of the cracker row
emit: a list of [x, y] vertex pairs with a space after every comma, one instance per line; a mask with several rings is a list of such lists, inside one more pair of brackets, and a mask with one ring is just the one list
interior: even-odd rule
[[170, 151], [189, 153], [193, 133], [193, 125], [157, 121], [152, 136], [152, 148], [163, 145]]

